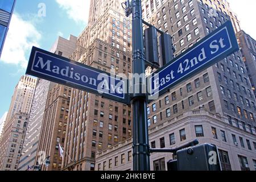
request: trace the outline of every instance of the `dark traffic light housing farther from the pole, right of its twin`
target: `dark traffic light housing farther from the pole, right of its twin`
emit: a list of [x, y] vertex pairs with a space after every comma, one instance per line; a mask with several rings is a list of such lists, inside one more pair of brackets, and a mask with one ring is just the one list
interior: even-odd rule
[[175, 49], [172, 46], [172, 37], [169, 34], [161, 34], [159, 38], [160, 59], [163, 66], [170, 63], [174, 59]]

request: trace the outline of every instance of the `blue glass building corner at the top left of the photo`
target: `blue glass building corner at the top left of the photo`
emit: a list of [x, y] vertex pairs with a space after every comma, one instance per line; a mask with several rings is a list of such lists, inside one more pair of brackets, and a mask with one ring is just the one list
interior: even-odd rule
[[16, 0], [0, 1], [0, 57]]

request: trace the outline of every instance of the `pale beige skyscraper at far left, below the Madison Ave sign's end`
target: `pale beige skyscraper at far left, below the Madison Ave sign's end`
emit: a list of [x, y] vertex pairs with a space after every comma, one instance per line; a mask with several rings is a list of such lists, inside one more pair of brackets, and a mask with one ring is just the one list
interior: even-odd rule
[[22, 76], [16, 85], [0, 140], [1, 170], [16, 170], [18, 167], [35, 85], [36, 78], [28, 76]]

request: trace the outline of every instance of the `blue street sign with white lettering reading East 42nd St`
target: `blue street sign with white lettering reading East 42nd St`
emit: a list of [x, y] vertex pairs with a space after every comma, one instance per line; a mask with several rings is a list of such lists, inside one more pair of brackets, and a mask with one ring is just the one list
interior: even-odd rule
[[149, 100], [161, 96], [238, 50], [236, 34], [232, 23], [228, 21], [148, 77]]

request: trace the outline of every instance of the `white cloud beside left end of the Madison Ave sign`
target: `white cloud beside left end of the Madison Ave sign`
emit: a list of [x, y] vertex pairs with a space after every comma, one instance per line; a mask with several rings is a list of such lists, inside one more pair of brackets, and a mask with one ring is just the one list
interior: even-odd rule
[[26, 68], [28, 54], [32, 46], [39, 47], [41, 37], [42, 35], [31, 22], [23, 20], [18, 14], [13, 14], [1, 61]]

